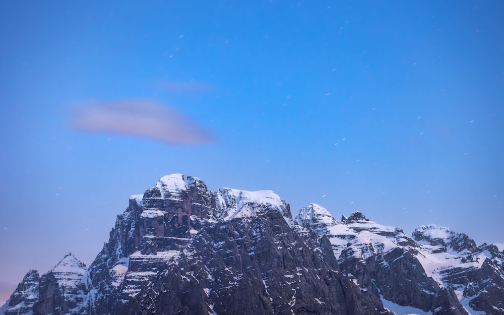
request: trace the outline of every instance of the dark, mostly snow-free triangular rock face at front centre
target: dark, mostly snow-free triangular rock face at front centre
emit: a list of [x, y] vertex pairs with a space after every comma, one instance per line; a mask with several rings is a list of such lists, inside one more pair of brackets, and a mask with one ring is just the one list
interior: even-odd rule
[[[130, 314], [379, 314], [363, 293], [329, 265], [321, 250], [282, 214], [246, 204], [240, 215], [202, 230], [151, 285]], [[336, 268], [336, 270], [331, 267]], [[385, 311], [386, 312], [386, 311]]]

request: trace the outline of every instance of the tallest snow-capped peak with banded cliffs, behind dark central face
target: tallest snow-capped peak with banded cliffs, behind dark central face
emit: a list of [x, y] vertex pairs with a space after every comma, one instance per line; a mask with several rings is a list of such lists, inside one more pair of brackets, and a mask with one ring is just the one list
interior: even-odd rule
[[101, 314], [120, 308], [164, 270], [198, 230], [231, 217], [246, 202], [291, 216], [288, 203], [272, 191], [210, 192], [201, 179], [182, 174], [163, 176], [143, 196], [132, 196], [90, 267], [93, 286], [104, 293], [88, 311]]

